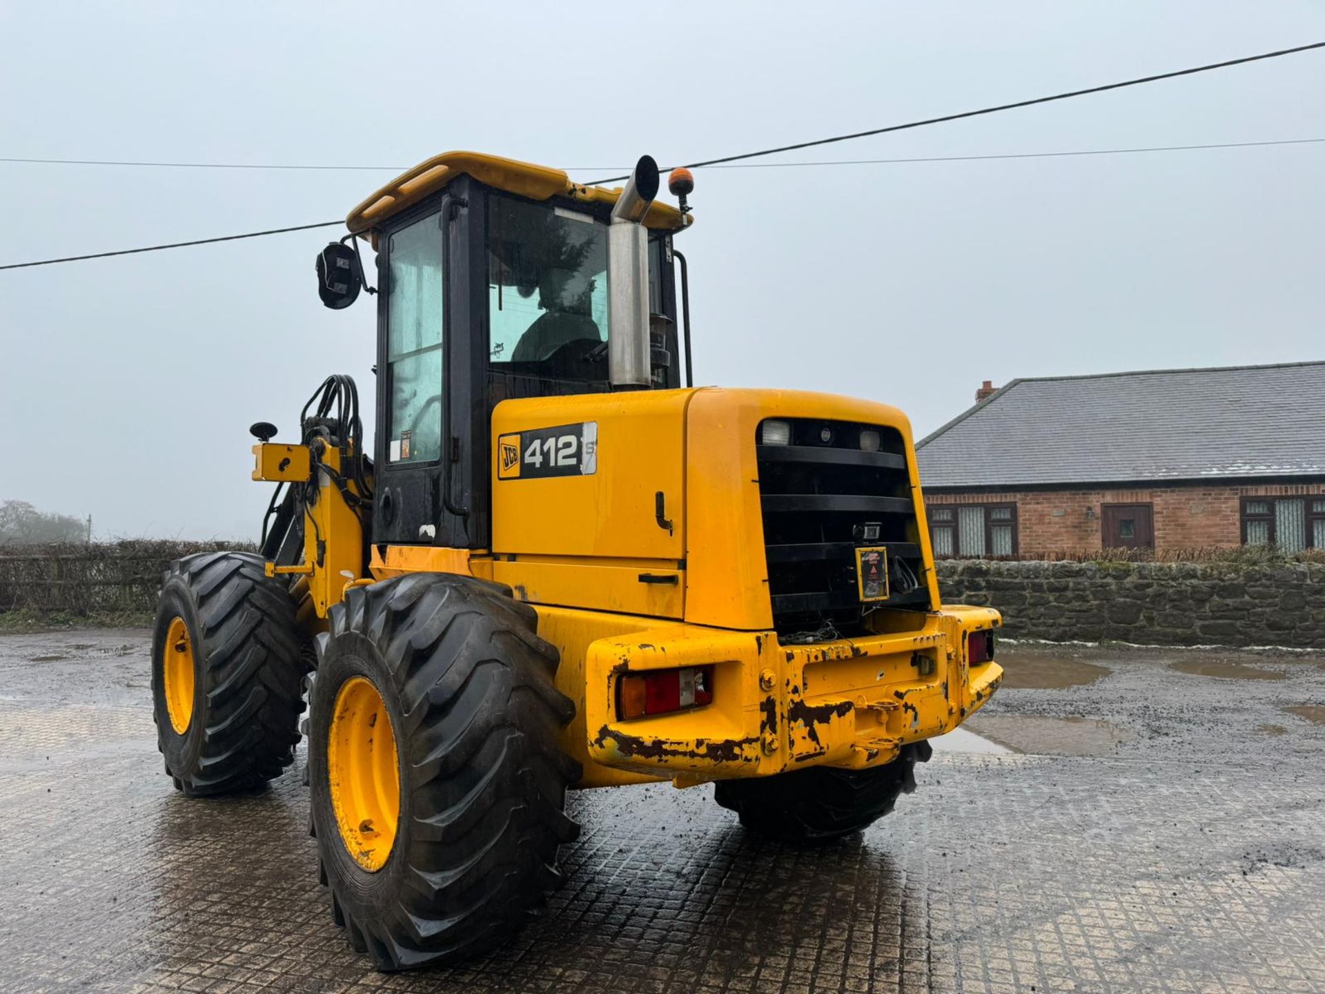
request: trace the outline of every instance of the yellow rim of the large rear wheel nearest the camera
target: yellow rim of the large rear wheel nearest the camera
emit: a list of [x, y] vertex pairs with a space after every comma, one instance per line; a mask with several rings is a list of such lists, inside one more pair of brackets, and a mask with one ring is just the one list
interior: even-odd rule
[[387, 864], [400, 819], [396, 734], [382, 694], [362, 676], [335, 696], [327, 732], [327, 778], [341, 842], [375, 873]]

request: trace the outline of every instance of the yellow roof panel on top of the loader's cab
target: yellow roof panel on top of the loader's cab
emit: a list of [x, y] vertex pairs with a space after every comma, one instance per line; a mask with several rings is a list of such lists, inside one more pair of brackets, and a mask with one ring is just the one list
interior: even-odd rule
[[[572, 183], [562, 170], [547, 166], [535, 166], [529, 162], [517, 162], [481, 152], [443, 152], [419, 163], [408, 172], [400, 174], [350, 211], [350, 216], [344, 219], [346, 227], [354, 235], [364, 235], [392, 215], [419, 203], [429, 193], [445, 188], [450, 180], [462, 175], [473, 176], [489, 187], [530, 200], [566, 196], [590, 204], [612, 205], [621, 196], [621, 187], [580, 186]], [[670, 204], [659, 201], [653, 201], [648, 213], [644, 215], [645, 227], [664, 231], [681, 231], [692, 221], [690, 215], [682, 215]]]

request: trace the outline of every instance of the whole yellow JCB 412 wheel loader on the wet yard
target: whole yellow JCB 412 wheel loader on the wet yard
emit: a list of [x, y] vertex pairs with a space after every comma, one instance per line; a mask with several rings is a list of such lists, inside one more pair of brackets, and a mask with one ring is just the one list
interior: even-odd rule
[[713, 783], [751, 832], [831, 839], [999, 685], [998, 612], [939, 602], [900, 411], [692, 384], [694, 184], [659, 186], [448, 152], [364, 200], [317, 272], [327, 306], [376, 296], [375, 437], [347, 376], [295, 440], [254, 424], [260, 553], [166, 574], [167, 773], [270, 781], [306, 696], [322, 881], [382, 970], [507, 941], [567, 790]]

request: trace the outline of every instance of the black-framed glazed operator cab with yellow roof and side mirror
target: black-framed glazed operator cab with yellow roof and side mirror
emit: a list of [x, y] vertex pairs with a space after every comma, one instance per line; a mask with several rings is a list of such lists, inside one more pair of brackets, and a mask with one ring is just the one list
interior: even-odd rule
[[354, 236], [376, 249], [372, 543], [489, 546], [502, 400], [681, 386], [672, 236], [692, 217], [656, 192], [648, 156], [604, 190], [448, 152], [351, 212], [351, 244], [327, 247], [318, 273], [323, 302], [347, 306]]

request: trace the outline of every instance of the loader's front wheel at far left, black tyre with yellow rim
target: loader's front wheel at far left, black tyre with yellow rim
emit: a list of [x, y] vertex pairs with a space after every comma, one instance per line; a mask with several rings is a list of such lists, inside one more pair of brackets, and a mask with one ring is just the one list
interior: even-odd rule
[[306, 660], [285, 580], [252, 553], [166, 570], [152, 634], [152, 718], [188, 797], [260, 787], [294, 761]]

